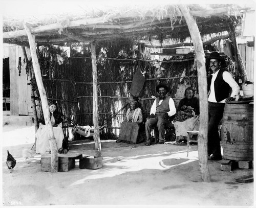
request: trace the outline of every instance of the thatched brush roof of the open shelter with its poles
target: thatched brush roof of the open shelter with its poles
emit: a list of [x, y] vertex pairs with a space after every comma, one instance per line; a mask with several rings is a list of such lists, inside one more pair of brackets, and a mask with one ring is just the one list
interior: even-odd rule
[[[161, 42], [166, 38], [183, 41], [190, 36], [178, 5], [148, 3], [88, 7], [79, 3], [82, 10], [75, 13], [71, 11], [55, 15], [29, 16], [24, 11], [23, 16], [4, 14], [4, 43], [29, 45], [23, 21], [27, 22], [35, 35], [37, 45], [64, 45], [67, 42], [94, 40], [115, 41], [119, 38], [138, 42], [148, 39], [158, 39]], [[74, 6], [77, 6], [76, 2], [73, 3]], [[68, 5], [66, 7], [69, 8]], [[100, 8], [97, 9], [98, 7]], [[239, 26], [243, 13], [250, 9], [238, 5], [194, 4], [187, 7], [190, 14], [196, 18], [202, 36], [229, 31], [228, 21], [234, 21]]]

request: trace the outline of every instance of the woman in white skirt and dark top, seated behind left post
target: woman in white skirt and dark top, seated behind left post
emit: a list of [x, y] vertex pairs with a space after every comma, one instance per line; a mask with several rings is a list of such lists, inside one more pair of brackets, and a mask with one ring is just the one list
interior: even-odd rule
[[[49, 103], [49, 114], [50, 121], [53, 127], [53, 135], [55, 138], [55, 142], [57, 148], [60, 149], [62, 147], [62, 141], [64, 138], [64, 134], [62, 131], [62, 117], [61, 113], [58, 112], [58, 106], [55, 102]], [[44, 114], [41, 114], [39, 121], [39, 128], [36, 131], [36, 153], [44, 154], [50, 151], [50, 142], [49, 142], [49, 134], [48, 129], [46, 128]]]

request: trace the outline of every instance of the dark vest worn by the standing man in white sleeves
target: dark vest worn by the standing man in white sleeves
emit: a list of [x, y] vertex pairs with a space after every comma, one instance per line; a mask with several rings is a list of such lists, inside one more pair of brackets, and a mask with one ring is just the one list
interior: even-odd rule
[[[215, 98], [217, 102], [224, 100], [229, 97], [230, 94], [230, 86], [223, 80], [223, 72], [224, 70], [220, 70], [215, 81], [214, 81], [214, 90], [215, 90]], [[210, 90], [212, 75], [208, 79], [208, 90]]]

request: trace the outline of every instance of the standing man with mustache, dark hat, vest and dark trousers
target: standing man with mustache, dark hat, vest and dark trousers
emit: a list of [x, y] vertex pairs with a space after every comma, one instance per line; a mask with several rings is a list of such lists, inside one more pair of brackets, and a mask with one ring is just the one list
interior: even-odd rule
[[231, 74], [220, 68], [221, 61], [218, 52], [210, 54], [210, 68], [213, 72], [208, 79], [208, 159], [210, 160], [222, 159], [218, 125], [223, 116], [225, 101], [234, 100], [240, 89]]

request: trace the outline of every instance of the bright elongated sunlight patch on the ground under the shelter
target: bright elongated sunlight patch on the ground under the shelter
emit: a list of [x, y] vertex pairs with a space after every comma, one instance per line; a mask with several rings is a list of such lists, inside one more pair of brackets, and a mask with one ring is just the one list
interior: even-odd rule
[[[178, 152], [178, 153], [167, 153], [163, 154], [154, 154], [154, 155], [140, 155], [134, 157], [124, 157], [118, 161], [113, 161], [113, 163], [104, 163], [105, 159], [103, 159], [103, 169], [98, 169], [97, 171], [91, 171], [90, 175], [84, 177], [83, 179], [77, 180], [76, 182], [70, 184], [70, 186], [76, 186], [77, 184], [84, 183], [84, 181], [89, 179], [99, 179], [105, 177], [114, 177], [117, 175], [124, 174], [126, 172], [135, 172], [141, 171], [143, 169], [154, 169], [154, 170], [166, 170], [176, 166], [184, 165], [191, 163], [195, 160], [198, 160], [197, 151], [189, 152], [189, 156], [187, 157], [186, 151]], [[147, 156], [147, 157], [145, 157]], [[143, 158], [138, 158], [143, 157]], [[181, 159], [182, 162], [180, 164], [175, 165], [164, 165], [163, 160], [166, 159]], [[110, 159], [110, 158], [109, 158]], [[184, 159], [187, 159], [184, 161]]]

